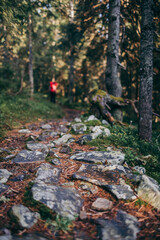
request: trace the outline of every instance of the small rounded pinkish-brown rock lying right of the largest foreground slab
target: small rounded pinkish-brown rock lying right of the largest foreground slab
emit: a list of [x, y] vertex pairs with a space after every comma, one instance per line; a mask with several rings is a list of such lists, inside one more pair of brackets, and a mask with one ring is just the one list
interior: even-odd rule
[[97, 211], [106, 211], [111, 209], [113, 203], [105, 198], [97, 198], [95, 202], [92, 203], [91, 208]]

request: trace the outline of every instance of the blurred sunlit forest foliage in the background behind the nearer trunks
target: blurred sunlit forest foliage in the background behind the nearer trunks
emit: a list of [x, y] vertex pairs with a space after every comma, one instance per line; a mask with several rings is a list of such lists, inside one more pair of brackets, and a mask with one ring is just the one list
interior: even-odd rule
[[[139, 100], [140, 85], [140, 2], [121, 0], [117, 63], [122, 97], [135, 103]], [[154, 0], [153, 10], [153, 111], [159, 113], [158, 0]], [[32, 56], [29, 57], [30, 15]], [[94, 89], [109, 91], [106, 89], [109, 0], [1, 0], [0, 32], [1, 92], [30, 94], [31, 59], [35, 93], [47, 94], [53, 76], [59, 82], [59, 96], [69, 103], [88, 101]], [[129, 115], [136, 116], [131, 110]]]

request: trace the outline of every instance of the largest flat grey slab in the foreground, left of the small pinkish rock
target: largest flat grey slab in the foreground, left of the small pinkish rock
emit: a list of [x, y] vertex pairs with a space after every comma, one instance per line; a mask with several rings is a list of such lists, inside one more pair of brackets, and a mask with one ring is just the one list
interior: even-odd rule
[[80, 213], [83, 200], [76, 190], [46, 184], [34, 184], [33, 198], [47, 205], [50, 209], [74, 220]]

